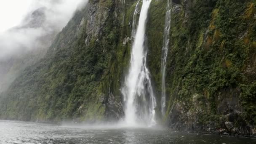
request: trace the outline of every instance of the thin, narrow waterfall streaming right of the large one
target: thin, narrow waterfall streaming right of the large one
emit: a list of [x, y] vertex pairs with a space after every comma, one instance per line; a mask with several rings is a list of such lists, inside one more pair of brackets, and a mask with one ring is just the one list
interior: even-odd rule
[[166, 59], [168, 55], [169, 47], [169, 34], [171, 27], [171, 3], [170, 0], [167, 0], [166, 14], [165, 14], [165, 29], [163, 36], [163, 49], [162, 49], [162, 62], [161, 62], [161, 73], [162, 73], [162, 97], [161, 97], [161, 112], [162, 115], [165, 114], [165, 103], [166, 103], [166, 92], [165, 92], [165, 77], [166, 77]]

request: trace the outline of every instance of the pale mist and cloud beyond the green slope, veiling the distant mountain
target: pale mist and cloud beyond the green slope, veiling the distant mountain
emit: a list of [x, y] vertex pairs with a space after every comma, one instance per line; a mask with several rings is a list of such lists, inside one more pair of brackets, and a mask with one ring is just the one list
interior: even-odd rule
[[[88, 0], [32, 0], [15, 27], [0, 32], [0, 93], [28, 66], [42, 59], [55, 36], [65, 27], [76, 10], [83, 8]], [[24, 6], [24, 5], [23, 5]], [[13, 7], [16, 8], [16, 7]], [[24, 12], [24, 9], [26, 10]], [[14, 11], [13, 13], [17, 13]], [[21, 15], [10, 14], [3, 20]], [[0, 26], [1, 27], [1, 26]], [[2, 29], [5, 26], [2, 25]]]

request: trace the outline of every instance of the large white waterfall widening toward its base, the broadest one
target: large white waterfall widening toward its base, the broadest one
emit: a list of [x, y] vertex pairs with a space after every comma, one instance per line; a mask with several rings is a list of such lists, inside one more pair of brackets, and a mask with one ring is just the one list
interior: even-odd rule
[[[125, 123], [128, 126], [138, 124], [155, 125], [156, 100], [152, 90], [149, 70], [147, 69], [147, 49], [145, 48], [145, 30], [147, 13], [151, 0], [143, 0], [136, 29], [135, 8], [133, 14], [134, 35], [129, 73], [125, 77], [122, 93], [125, 102]], [[137, 6], [139, 3], [137, 3]], [[133, 34], [132, 34], [133, 35]]]

